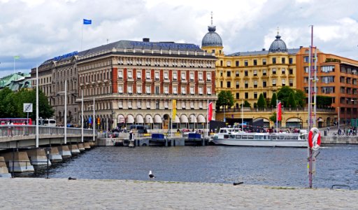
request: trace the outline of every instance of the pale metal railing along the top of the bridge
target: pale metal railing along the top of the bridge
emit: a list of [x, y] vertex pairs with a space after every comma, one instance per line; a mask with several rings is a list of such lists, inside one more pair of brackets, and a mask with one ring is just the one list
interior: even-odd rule
[[[81, 129], [68, 127], [67, 134], [80, 135]], [[35, 135], [36, 125], [0, 125], [0, 137]], [[64, 127], [38, 126], [38, 134], [63, 135]], [[93, 134], [93, 130], [84, 129], [83, 134]]]

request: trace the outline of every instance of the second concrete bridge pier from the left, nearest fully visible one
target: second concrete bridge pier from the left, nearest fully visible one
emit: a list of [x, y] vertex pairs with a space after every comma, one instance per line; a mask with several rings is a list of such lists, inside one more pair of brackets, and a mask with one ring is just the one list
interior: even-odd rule
[[[14, 154], [14, 157], [13, 157]], [[8, 162], [9, 172], [34, 172], [27, 152], [5, 153], [3, 158]], [[14, 161], [13, 161], [14, 160]]]

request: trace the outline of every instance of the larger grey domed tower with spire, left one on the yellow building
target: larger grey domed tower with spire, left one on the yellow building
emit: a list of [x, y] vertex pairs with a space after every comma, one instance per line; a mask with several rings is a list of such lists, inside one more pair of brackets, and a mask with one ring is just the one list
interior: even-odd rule
[[205, 34], [201, 41], [201, 49], [215, 55], [221, 55], [222, 52], [222, 39], [216, 32], [216, 27], [213, 25], [213, 13], [211, 13], [211, 25], [208, 26], [208, 33]]

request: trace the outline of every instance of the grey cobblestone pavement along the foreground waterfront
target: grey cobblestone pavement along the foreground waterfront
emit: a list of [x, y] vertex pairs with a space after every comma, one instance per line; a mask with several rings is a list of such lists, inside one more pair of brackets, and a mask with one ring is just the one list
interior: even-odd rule
[[358, 190], [90, 179], [0, 179], [0, 209], [358, 209]]

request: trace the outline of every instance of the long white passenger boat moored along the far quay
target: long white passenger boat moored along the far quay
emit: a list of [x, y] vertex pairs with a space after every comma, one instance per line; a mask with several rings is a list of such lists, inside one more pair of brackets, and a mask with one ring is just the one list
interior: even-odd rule
[[215, 134], [213, 141], [218, 145], [229, 146], [284, 146], [307, 147], [307, 133], [247, 133], [241, 129], [224, 127]]

